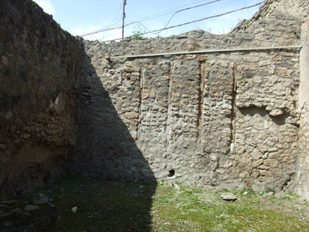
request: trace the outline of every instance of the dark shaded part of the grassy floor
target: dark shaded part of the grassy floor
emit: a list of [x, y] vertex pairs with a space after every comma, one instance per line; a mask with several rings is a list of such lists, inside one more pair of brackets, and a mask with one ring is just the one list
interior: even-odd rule
[[[113, 182], [69, 175], [44, 191], [61, 217], [51, 231], [151, 231], [154, 182]], [[72, 208], [77, 207], [76, 213]]]

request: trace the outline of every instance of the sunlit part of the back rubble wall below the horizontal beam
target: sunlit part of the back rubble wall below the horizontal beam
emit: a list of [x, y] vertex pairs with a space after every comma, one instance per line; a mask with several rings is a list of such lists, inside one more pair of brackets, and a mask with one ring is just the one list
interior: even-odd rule
[[[108, 92], [156, 178], [166, 178], [174, 169], [176, 178], [198, 186], [258, 189], [284, 189], [294, 178], [298, 52], [186, 55], [103, 65], [104, 56], [97, 54], [91, 58], [97, 75], [92, 76]], [[92, 92], [99, 92], [97, 86], [92, 85]], [[111, 120], [102, 108], [92, 110], [81, 112], [98, 122]], [[112, 130], [112, 125], [103, 126], [102, 142]], [[78, 144], [94, 156], [86, 170], [100, 165], [101, 150]], [[114, 160], [115, 169], [123, 158]], [[140, 168], [134, 160], [125, 163], [118, 170], [123, 174]], [[140, 174], [138, 179], [147, 177]]]

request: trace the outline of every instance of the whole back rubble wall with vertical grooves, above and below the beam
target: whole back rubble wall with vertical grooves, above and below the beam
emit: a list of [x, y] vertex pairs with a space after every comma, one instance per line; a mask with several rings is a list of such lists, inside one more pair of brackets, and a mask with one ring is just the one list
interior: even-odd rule
[[[248, 28], [225, 35], [198, 30], [108, 44], [83, 41], [91, 68], [90, 74], [83, 76], [87, 89], [81, 97], [79, 117], [102, 125], [87, 131], [88, 138], [78, 142], [83, 148], [77, 156], [90, 161], [83, 162], [87, 165], [81, 170], [95, 170], [108, 179], [149, 177], [137, 160], [127, 159], [128, 152], [132, 153], [128, 144], [108, 143], [112, 144], [109, 149], [118, 151], [117, 158], [102, 152], [107, 144], [102, 145], [104, 149], [87, 145], [97, 134], [101, 139], [95, 143], [103, 144], [113, 131], [112, 125], [103, 124], [113, 116], [106, 112], [107, 105], [95, 105], [108, 93], [117, 117], [125, 123], [155, 178], [167, 178], [173, 169], [172, 178], [201, 187], [296, 190], [298, 50], [130, 59], [115, 56], [299, 45], [301, 21], [274, 10]], [[80, 131], [85, 127], [78, 126]], [[102, 168], [102, 162], [109, 165]]]

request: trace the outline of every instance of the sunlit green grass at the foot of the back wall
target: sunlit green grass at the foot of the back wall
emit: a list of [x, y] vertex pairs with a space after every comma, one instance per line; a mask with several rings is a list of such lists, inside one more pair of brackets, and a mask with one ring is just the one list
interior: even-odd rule
[[[167, 188], [158, 191], [168, 192]], [[297, 208], [286, 213], [275, 206], [253, 191], [236, 202], [225, 202], [215, 193], [185, 186], [154, 200], [154, 208], [161, 212], [158, 221], [168, 221], [159, 231], [308, 231], [308, 218], [295, 217]]]

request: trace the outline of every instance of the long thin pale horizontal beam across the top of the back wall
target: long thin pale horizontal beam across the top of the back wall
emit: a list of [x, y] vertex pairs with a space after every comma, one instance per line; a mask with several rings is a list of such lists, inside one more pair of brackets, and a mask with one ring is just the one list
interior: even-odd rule
[[205, 54], [205, 53], [224, 53], [224, 52], [241, 52], [241, 51], [262, 51], [262, 50], [281, 50], [281, 49], [300, 49], [301, 45], [290, 46], [273, 46], [273, 47], [248, 47], [248, 48], [227, 48], [227, 49], [209, 49], [199, 51], [180, 51], [180, 52], [166, 52], [154, 54], [138, 54], [138, 55], [125, 55], [125, 56], [111, 56], [111, 59], [119, 58], [143, 58], [155, 56], [171, 56], [171, 55], [185, 55], [185, 54]]

